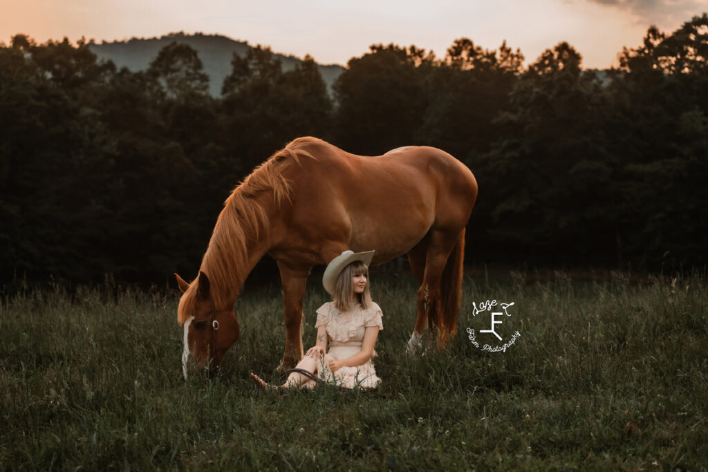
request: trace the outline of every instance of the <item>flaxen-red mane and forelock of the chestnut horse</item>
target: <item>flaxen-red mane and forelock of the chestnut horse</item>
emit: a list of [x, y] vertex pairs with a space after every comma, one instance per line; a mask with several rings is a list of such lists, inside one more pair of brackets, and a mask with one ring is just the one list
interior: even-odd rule
[[[224, 201], [224, 208], [214, 226], [207, 251], [202, 258], [200, 270], [210, 280], [211, 294], [217, 306], [229, 303], [229, 288], [240, 290], [248, 276], [246, 263], [248, 253], [246, 241], [258, 238], [258, 234], [268, 231], [268, 200], [275, 208], [292, 201], [290, 182], [282, 175], [282, 170], [300, 164], [300, 158], [315, 159], [307, 149], [308, 144], [324, 143], [314, 137], [300, 137], [288, 143], [283, 149], [270, 156], [234, 188]], [[180, 300], [178, 321], [184, 324], [190, 313], [194, 313], [197, 284], [190, 284]]]

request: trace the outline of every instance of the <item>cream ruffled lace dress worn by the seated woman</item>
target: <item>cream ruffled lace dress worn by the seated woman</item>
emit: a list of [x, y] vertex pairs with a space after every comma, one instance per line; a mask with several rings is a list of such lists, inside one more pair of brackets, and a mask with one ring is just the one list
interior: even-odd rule
[[[339, 311], [334, 307], [334, 302], [330, 301], [317, 309], [315, 327], [326, 326], [330, 346], [329, 352], [317, 363], [320, 379], [346, 388], [373, 388], [379, 384], [381, 379], [376, 375], [372, 359], [355, 367], [340, 367], [336, 372], [329, 369], [329, 360], [346, 359], [358, 354], [367, 326], [384, 329], [381, 316], [381, 309], [375, 303], [367, 309], [357, 305], [348, 311]], [[372, 353], [372, 358], [375, 356], [376, 351]]]

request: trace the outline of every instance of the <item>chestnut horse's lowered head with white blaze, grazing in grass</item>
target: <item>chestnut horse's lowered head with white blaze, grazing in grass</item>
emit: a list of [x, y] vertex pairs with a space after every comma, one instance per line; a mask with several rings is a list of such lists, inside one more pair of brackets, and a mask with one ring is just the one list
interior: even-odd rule
[[233, 304], [219, 304], [204, 272], [199, 272], [197, 280], [191, 284], [175, 276], [182, 291], [177, 309], [178, 321], [184, 329], [182, 375], [186, 380], [190, 357], [193, 357], [198, 368], [206, 369], [213, 376], [229, 347], [239, 338], [239, 321]]

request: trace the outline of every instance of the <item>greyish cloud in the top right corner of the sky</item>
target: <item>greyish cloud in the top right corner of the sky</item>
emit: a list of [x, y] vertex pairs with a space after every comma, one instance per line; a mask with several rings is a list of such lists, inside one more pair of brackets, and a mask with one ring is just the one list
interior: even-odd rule
[[638, 23], [674, 30], [694, 16], [708, 11], [705, 0], [588, 0], [625, 11]]

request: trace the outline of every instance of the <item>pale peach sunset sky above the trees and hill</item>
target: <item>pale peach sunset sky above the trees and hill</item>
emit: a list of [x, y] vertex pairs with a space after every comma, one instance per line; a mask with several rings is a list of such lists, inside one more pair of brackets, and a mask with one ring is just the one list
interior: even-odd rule
[[567, 41], [583, 67], [617, 65], [650, 25], [671, 33], [708, 12], [708, 0], [0, 0], [0, 42], [127, 40], [220, 34], [251, 45], [346, 65], [372, 44], [416, 45], [444, 57], [457, 38], [496, 50], [506, 40], [526, 62]]

